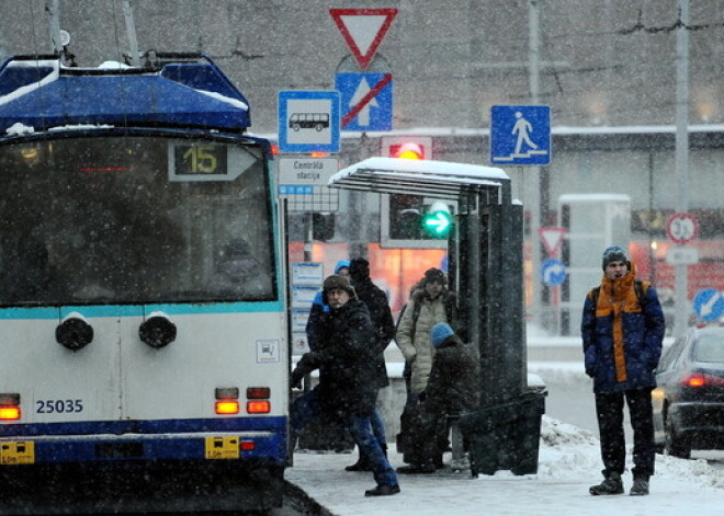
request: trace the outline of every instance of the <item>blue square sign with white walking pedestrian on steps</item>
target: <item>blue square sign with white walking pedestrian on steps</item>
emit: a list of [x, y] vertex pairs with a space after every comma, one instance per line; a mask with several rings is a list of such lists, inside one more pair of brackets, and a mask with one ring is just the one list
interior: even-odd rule
[[551, 163], [551, 107], [491, 106], [490, 162], [504, 165]]

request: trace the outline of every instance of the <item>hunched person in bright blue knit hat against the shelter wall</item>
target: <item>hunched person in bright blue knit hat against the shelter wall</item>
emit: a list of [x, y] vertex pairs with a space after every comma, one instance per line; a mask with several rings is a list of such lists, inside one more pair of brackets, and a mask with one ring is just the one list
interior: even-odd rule
[[[479, 355], [471, 344], [455, 335], [450, 324], [432, 326], [430, 340], [435, 347], [428, 386], [420, 403], [406, 409], [409, 434], [401, 439], [405, 462], [399, 473], [432, 473], [442, 467], [441, 444], [446, 442], [446, 414], [475, 409], [479, 400]], [[443, 435], [438, 435], [439, 428]]]

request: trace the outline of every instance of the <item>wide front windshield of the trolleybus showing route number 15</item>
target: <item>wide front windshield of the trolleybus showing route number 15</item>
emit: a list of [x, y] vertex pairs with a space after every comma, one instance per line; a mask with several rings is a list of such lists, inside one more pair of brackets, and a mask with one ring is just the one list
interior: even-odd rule
[[0, 146], [0, 305], [275, 298], [262, 149], [81, 136]]

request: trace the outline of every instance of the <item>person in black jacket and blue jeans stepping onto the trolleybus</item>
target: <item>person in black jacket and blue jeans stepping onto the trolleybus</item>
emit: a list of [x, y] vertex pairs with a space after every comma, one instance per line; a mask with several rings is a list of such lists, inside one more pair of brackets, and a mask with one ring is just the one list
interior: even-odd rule
[[292, 428], [298, 436], [316, 417], [338, 418], [372, 466], [377, 486], [365, 496], [399, 493], [395, 470], [370, 426], [378, 390], [373, 360], [377, 335], [370, 312], [343, 276], [325, 279], [324, 296], [330, 308], [326, 342], [304, 354], [292, 372], [292, 385], [298, 386], [304, 375], [319, 369], [319, 383], [292, 404]]

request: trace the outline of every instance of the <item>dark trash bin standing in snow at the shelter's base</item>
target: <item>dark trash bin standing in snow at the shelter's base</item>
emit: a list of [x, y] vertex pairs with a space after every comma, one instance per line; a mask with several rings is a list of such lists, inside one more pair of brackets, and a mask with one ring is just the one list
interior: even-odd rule
[[513, 474], [538, 472], [546, 394], [543, 389], [531, 390], [516, 400], [461, 416], [459, 427], [467, 444], [474, 477], [498, 470]]

